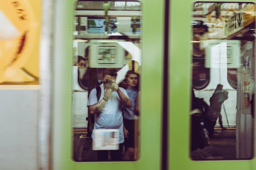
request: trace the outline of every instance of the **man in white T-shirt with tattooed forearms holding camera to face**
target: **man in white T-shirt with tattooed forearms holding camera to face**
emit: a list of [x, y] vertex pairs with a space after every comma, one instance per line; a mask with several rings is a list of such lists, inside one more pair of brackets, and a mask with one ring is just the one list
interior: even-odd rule
[[[117, 71], [114, 68], [107, 68], [103, 71], [103, 86], [101, 96], [97, 100], [96, 89], [93, 89], [89, 95], [88, 104], [89, 113], [95, 115], [94, 129], [118, 129], [119, 150], [110, 150], [112, 161], [122, 161], [122, 151], [124, 146], [122, 105], [131, 107], [131, 100], [127, 92], [118, 87], [116, 83]], [[107, 88], [107, 83], [111, 82], [111, 88]], [[94, 133], [92, 134], [94, 140]], [[98, 161], [108, 160], [108, 150], [97, 150]]]

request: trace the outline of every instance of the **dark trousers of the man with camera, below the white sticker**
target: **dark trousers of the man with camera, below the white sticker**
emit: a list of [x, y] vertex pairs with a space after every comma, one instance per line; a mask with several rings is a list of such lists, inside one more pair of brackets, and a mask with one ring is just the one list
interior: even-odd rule
[[[110, 157], [112, 161], [122, 161], [124, 143], [119, 144], [118, 150], [110, 150]], [[98, 161], [108, 161], [109, 150], [97, 150]]]

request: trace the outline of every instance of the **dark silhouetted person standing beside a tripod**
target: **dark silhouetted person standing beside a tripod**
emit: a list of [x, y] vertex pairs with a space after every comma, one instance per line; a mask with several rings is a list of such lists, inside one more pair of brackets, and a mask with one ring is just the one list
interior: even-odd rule
[[228, 96], [224, 96], [223, 91], [223, 85], [222, 84], [218, 84], [215, 91], [213, 92], [212, 97], [210, 98], [210, 107], [213, 108], [213, 111], [219, 115], [219, 124], [221, 127], [221, 130], [224, 131], [227, 128], [223, 127], [222, 124], [222, 116], [221, 116], [221, 106], [222, 103], [227, 100], [229, 97]]

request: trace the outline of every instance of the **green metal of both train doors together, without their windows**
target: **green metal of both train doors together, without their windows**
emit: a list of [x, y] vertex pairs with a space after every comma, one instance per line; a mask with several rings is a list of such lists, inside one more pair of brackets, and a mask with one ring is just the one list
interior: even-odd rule
[[[76, 1], [53, 3], [51, 167], [77, 170], [84, 168], [255, 169], [254, 159], [217, 162], [191, 160], [190, 118], [187, 113], [190, 112], [191, 103], [190, 41], [191, 11], [194, 1], [145, 0], [141, 2], [143, 4], [141, 156], [135, 162], [119, 163], [77, 163], [72, 160], [72, 131], [70, 126], [67, 126], [71, 124], [70, 63], [72, 61], [62, 56], [72, 55], [70, 47], [73, 36], [70, 23]], [[60, 32], [60, 27], [65, 29]], [[168, 65], [164, 65], [166, 61]], [[168, 85], [168, 95], [163, 92], [166, 85]], [[168, 103], [164, 105], [166, 99]], [[164, 118], [168, 118], [165, 124]], [[166, 134], [163, 133], [165, 128], [167, 128]], [[166, 141], [163, 142], [163, 140]]]

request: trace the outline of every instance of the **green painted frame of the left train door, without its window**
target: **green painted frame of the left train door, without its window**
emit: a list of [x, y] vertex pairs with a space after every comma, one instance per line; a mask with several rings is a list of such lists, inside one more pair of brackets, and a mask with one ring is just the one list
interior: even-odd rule
[[[54, 92], [51, 130], [51, 167], [61, 170], [111, 169], [158, 170], [161, 167], [162, 65], [164, 0], [143, 0], [141, 76], [141, 155], [136, 162], [77, 163], [72, 159], [72, 41], [76, 1], [53, 1], [53, 58], [61, 60], [61, 72], [53, 66]], [[153, 10], [152, 10], [153, 9]], [[61, 30], [60, 30], [61, 29]], [[60, 57], [56, 51], [61, 49]], [[60, 59], [61, 58], [61, 59]], [[66, 82], [60, 81], [61, 77]], [[58, 96], [59, 94], [59, 96]], [[59, 102], [58, 102], [59, 101]], [[61, 102], [60, 102], [61, 101]], [[57, 106], [58, 105], [58, 106]]]

